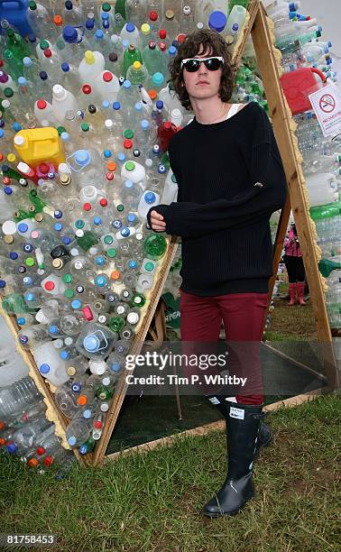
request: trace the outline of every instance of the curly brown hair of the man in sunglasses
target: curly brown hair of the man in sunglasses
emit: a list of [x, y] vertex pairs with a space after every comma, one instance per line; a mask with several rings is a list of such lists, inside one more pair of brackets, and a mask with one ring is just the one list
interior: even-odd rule
[[224, 65], [222, 68], [218, 95], [222, 102], [228, 102], [235, 86], [236, 66], [232, 62], [231, 54], [227, 49], [226, 41], [216, 31], [201, 29], [190, 32], [185, 41], [180, 44], [178, 52], [170, 63], [171, 82], [180, 99], [181, 105], [187, 110], [191, 109], [189, 94], [185, 87], [181, 61], [186, 58], [194, 58], [198, 52], [208, 51], [210, 56], [222, 56]]

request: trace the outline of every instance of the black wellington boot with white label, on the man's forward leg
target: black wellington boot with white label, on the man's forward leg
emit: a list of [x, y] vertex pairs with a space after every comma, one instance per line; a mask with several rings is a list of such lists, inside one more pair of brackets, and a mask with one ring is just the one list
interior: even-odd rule
[[235, 515], [253, 498], [253, 460], [262, 416], [262, 406], [229, 402], [228, 471], [226, 482], [204, 507], [204, 514], [209, 518]]

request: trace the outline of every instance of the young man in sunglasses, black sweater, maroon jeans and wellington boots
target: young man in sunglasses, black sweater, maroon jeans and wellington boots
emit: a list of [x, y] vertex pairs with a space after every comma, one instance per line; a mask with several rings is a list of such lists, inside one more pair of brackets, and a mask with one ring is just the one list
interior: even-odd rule
[[284, 205], [287, 187], [263, 109], [228, 103], [235, 68], [217, 32], [189, 34], [171, 78], [195, 118], [169, 148], [178, 202], [152, 207], [148, 222], [155, 232], [182, 237], [181, 340], [217, 342], [223, 320], [226, 340], [236, 345], [228, 370], [248, 380], [246, 391], [210, 399], [226, 418], [226, 482], [204, 508], [217, 517], [253, 497], [254, 455], [272, 440], [262, 422], [259, 349], [272, 275], [269, 219]]

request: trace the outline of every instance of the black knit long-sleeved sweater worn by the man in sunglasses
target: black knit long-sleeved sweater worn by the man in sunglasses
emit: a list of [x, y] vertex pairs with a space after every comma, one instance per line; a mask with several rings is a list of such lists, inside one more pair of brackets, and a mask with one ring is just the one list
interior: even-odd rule
[[182, 237], [181, 290], [263, 293], [272, 275], [269, 219], [287, 185], [272, 125], [251, 103], [226, 121], [194, 120], [171, 140], [178, 202], [152, 207]]

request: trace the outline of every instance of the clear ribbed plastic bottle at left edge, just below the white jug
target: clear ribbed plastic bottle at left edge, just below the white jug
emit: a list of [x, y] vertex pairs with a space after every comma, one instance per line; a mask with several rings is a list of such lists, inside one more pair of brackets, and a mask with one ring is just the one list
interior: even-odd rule
[[29, 376], [0, 389], [0, 418], [11, 418], [41, 397]]

